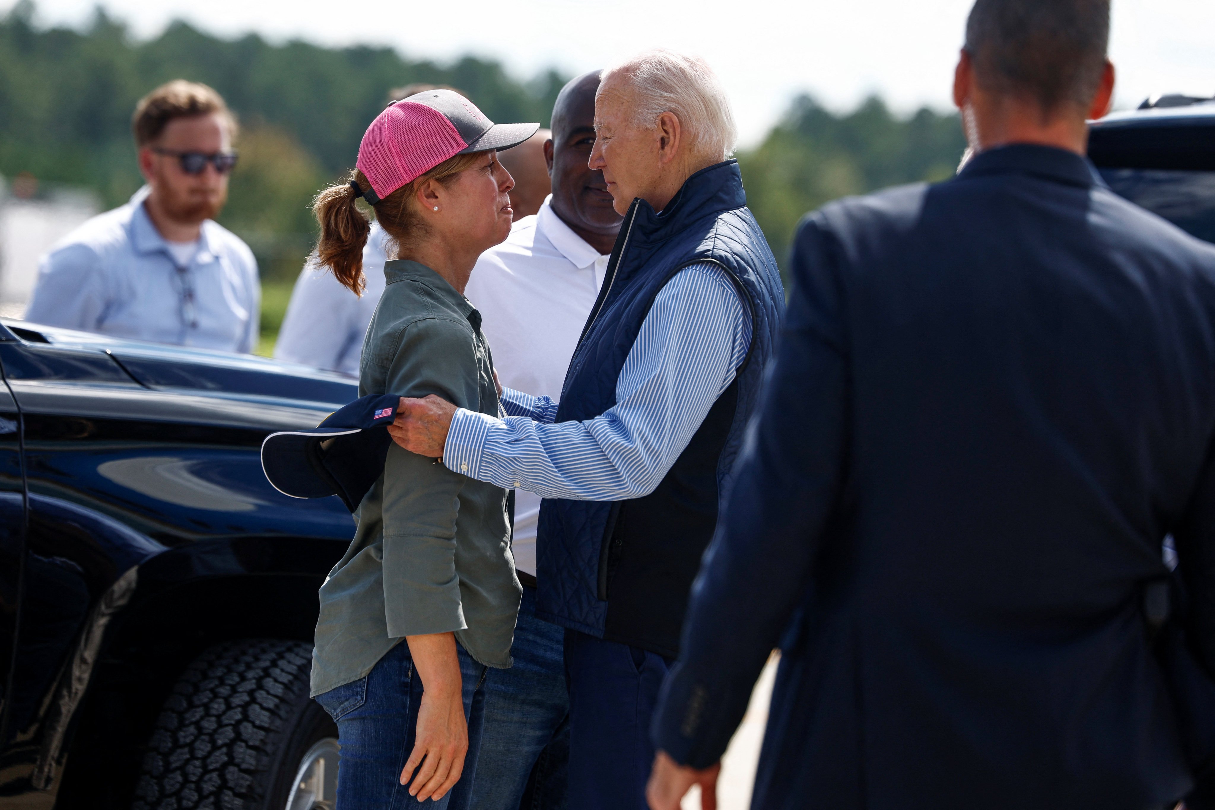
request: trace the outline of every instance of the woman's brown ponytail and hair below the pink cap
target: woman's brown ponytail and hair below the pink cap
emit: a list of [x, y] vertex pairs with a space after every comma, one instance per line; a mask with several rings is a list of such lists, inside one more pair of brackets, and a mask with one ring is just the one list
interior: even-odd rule
[[[484, 157], [485, 152], [470, 152], [448, 158], [372, 206], [375, 209], [375, 219], [380, 227], [395, 243], [395, 248], [389, 250], [390, 255], [400, 254], [401, 245], [413, 244], [426, 233], [425, 220], [420, 216], [414, 199], [418, 186], [428, 180], [447, 185], [456, 179], [456, 175], [471, 168]], [[328, 267], [343, 287], [355, 295], [362, 295], [366, 287], [363, 247], [367, 244], [372, 225], [367, 215], [355, 204], [357, 198], [355, 189], [350, 187], [351, 181], [358, 183], [363, 191], [372, 187], [363, 172], [355, 169], [346, 175], [344, 182], [329, 186], [312, 200], [312, 213], [316, 214], [316, 221], [321, 226], [316, 260], [320, 266]]]

